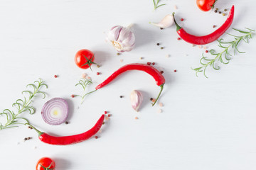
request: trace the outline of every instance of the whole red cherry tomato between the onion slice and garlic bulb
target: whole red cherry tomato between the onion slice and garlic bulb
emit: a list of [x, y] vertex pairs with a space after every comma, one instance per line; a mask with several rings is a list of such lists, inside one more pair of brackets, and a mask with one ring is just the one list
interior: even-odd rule
[[79, 50], [75, 55], [75, 64], [81, 69], [91, 69], [92, 64], [96, 64], [93, 62], [95, 60], [95, 55], [90, 50], [82, 49]]

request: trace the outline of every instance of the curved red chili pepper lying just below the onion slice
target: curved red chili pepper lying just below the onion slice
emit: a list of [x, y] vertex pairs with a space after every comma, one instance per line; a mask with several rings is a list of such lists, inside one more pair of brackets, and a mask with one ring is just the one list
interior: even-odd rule
[[83, 132], [78, 135], [71, 135], [71, 136], [61, 136], [61, 137], [56, 137], [56, 136], [51, 136], [48, 135], [46, 132], [41, 132], [34, 128], [32, 125], [30, 125], [36, 132], [38, 132], [38, 138], [42, 142], [51, 144], [51, 145], [70, 145], [70, 144], [75, 144], [78, 142], [82, 142], [84, 140], [89, 139], [93, 135], [95, 135], [101, 128], [103, 121], [104, 121], [105, 115], [102, 115], [99, 120], [97, 120], [97, 123], [88, 131]]

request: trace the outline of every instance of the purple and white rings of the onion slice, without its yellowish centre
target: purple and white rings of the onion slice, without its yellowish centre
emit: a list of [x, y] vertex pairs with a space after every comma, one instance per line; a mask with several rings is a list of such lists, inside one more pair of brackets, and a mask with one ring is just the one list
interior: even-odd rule
[[[58, 107], [62, 110], [63, 115], [60, 118], [57, 119], [50, 116], [50, 111], [53, 107]], [[52, 98], [43, 105], [41, 115], [43, 120], [49, 125], [60, 125], [67, 120], [68, 111], [68, 102], [64, 98]]]

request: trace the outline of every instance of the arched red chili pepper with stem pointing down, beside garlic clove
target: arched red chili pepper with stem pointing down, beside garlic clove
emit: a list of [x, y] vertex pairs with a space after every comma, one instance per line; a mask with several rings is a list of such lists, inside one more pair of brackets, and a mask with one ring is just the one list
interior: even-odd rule
[[[147, 64], [138, 64], [138, 63], [126, 64], [123, 67], [117, 69], [116, 72], [114, 72], [110, 77], [108, 77], [105, 81], [103, 81], [101, 84], [99, 84], [95, 89], [97, 90], [97, 89], [102, 88], [103, 86], [106, 86], [112, 80], [114, 80], [116, 77], [118, 77], [120, 74], [122, 74], [123, 72], [127, 72], [129, 70], [139, 70], [139, 71], [146, 72], [147, 74], [150, 74], [156, 80], [156, 85], [161, 87], [159, 96], [161, 95], [161, 92], [164, 89], [164, 83], [165, 83], [164, 76], [154, 67], [151, 67]], [[159, 96], [157, 96], [156, 101], [159, 99]], [[154, 103], [152, 103], [152, 106], [154, 106], [156, 101]]]

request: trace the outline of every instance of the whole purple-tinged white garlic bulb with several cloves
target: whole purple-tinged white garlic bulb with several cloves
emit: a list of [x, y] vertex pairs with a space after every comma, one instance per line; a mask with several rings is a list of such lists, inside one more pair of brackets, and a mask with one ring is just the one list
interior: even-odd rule
[[107, 35], [107, 42], [118, 52], [128, 52], [134, 48], [135, 35], [128, 27], [114, 26]]

